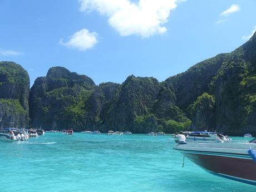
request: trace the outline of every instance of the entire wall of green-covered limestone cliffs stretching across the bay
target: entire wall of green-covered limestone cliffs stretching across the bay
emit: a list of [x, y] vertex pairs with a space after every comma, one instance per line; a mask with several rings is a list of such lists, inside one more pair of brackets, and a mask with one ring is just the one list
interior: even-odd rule
[[[50, 68], [31, 88], [31, 126], [43, 129], [151, 131], [217, 130], [256, 133], [256, 35], [231, 53], [221, 53], [158, 82], [127, 77], [121, 85], [96, 86], [90, 77]], [[1, 63], [0, 114], [5, 126], [28, 121], [28, 76], [9, 78]], [[15, 67], [14, 67], [15, 66]], [[21, 70], [22, 69], [22, 70]], [[11, 76], [16, 73], [10, 73]], [[19, 77], [19, 75], [17, 76]], [[21, 83], [22, 82], [22, 83]], [[7, 118], [7, 119], [8, 119]]]

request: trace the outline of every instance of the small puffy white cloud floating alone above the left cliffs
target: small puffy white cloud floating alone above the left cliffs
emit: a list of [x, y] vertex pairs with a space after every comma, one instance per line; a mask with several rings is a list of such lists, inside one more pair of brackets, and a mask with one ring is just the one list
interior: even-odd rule
[[96, 45], [97, 42], [97, 33], [89, 32], [85, 28], [75, 32], [67, 42], [60, 40], [61, 45], [64, 45], [68, 48], [76, 48], [80, 51], [86, 51], [89, 48], [92, 48]]

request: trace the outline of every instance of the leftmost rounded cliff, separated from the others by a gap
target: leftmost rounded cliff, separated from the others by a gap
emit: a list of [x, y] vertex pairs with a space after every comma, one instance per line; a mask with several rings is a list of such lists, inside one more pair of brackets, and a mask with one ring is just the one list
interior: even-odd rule
[[14, 62], [0, 62], [0, 126], [2, 128], [28, 125], [28, 96], [27, 71]]

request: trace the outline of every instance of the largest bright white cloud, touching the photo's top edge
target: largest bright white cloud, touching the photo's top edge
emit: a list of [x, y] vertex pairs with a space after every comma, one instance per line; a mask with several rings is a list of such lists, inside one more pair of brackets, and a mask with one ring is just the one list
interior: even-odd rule
[[149, 37], [167, 31], [162, 25], [168, 22], [176, 0], [80, 0], [82, 12], [97, 11], [109, 17], [109, 24], [121, 36]]

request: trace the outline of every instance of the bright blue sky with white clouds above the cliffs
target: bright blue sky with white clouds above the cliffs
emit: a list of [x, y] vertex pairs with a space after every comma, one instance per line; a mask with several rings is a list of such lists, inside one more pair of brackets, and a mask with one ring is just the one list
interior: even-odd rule
[[159, 81], [219, 53], [256, 30], [254, 0], [0, 0], [0, 61], [29, 73], [50, 67], [97, 85], [127, 76]]

